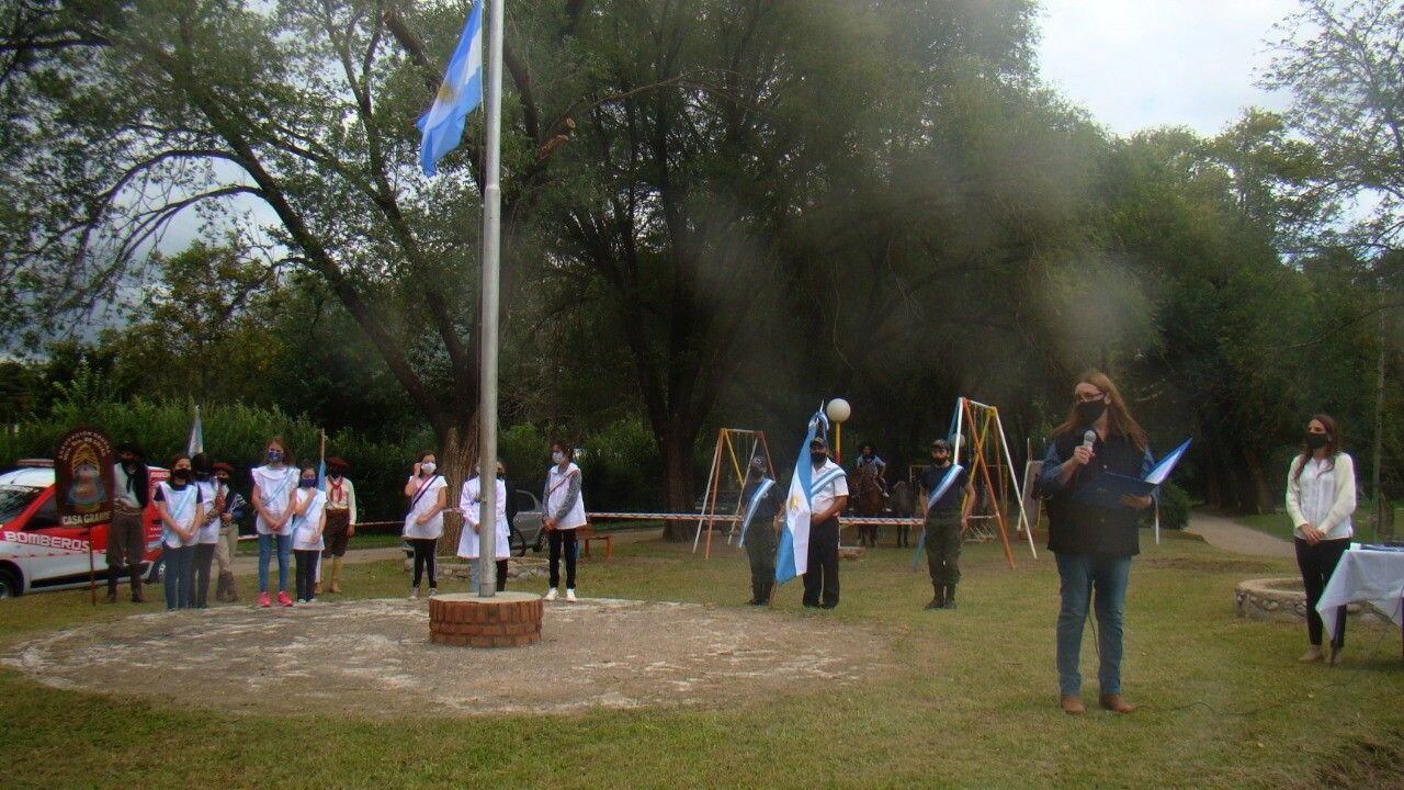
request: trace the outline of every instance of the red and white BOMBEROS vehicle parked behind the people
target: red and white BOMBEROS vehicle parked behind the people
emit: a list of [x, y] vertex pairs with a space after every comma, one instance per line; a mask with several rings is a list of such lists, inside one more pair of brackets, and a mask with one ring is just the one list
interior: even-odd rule
[[[150, 467], [150, 485], [168, 472]], [[88, 583], [88, 540], [94, 566], [107, 575], [108, 524], [65, 527], [59, 523], [55, 499], [53, 462], [20, 461], [18, 468], [0, 474], [0, 597], [38, 590], [81, 588]], [[142, 513], [146, 524], [146, 552], [142, 572], [153, 574], [161, 554], [161, 526], [154, 503]]]

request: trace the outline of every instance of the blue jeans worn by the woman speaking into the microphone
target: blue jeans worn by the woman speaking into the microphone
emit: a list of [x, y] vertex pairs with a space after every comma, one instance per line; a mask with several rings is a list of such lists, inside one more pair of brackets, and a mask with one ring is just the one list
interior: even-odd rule
[[1063, 582], [1063, 607], [1057, 614], [1057, 685], [1063, 694], [1082, 693], [1078, 659], [1082, 651], [1082, 624], [1087, 604], [1097, 610], [1097, 680], [1102, 694], [1122, 693], [1122, 616], [1126, 614], [1126, 583], [1132, 558], [1098, 554], [1056, 554], [1057, 575]]

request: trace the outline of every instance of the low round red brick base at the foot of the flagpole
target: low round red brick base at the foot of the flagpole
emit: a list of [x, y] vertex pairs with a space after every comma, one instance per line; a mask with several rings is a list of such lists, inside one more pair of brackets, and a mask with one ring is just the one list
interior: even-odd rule
[[514, 648], [541, 641], [539, 595], [500, 592], [437, 595], [430, 599], [430, 641], [469, 648]]

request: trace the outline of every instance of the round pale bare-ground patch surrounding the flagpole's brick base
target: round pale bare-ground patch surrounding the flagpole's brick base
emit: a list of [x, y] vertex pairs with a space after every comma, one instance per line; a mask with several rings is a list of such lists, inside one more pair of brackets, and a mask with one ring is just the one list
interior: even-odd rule
[[570, 714], [717, 704], [855, 683], [887, 640], [824, 614], [695, 603], [548, 603], [542, 642], [430, 642], [424, 602], [218, 607], [84, 626], [0, 663], [41, 683], [178, 707], [358, 717]]

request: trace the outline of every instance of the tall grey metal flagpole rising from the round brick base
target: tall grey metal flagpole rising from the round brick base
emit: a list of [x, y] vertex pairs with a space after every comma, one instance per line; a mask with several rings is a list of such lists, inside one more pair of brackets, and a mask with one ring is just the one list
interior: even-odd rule
[[[482, 1], [482, 0], [480, 0]], [[498, 184], [498, 153], [503, 122], [503, 6], [491, 0], [487, 15], [487, 163], [483, 179], [483, 311], [479, 329], [483, 342], [479, 382], [477, 481], [483, 495], [477, 552], [477, 596], [497, 592], [497, 301], [501, 253], [503, 191]]]

